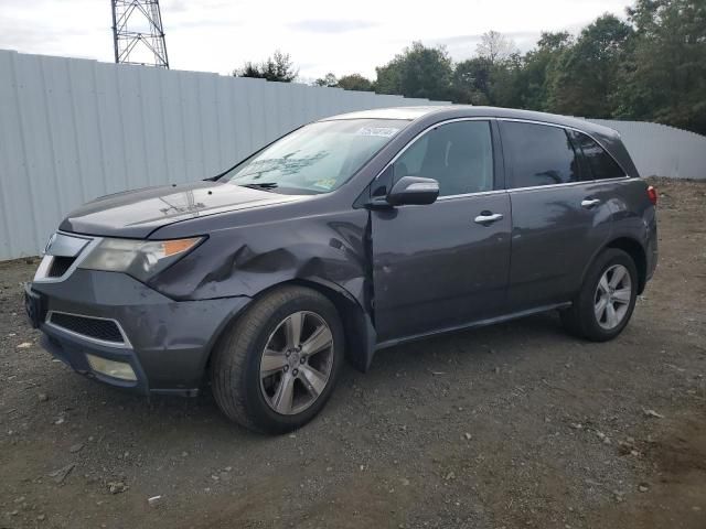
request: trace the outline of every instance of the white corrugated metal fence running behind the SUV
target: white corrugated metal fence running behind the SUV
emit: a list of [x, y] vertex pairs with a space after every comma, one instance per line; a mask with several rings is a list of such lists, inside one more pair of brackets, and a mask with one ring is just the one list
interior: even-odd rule
[[[0, 50], [0, 260], [39, 253], [97, 196], [204, 179], [324, 116], [428, 104], [448, 105]], [[706, 176], [706, 138], [606, 125], [643, 174]]]

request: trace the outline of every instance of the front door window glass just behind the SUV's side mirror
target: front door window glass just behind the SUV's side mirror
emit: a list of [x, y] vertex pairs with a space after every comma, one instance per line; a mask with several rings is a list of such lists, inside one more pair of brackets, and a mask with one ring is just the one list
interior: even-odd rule
[[429, 130], [393, 164], [393, 177], [439, 182], [439, 196], [493, 188], [493, 143], [489, 121], [454, 121]]

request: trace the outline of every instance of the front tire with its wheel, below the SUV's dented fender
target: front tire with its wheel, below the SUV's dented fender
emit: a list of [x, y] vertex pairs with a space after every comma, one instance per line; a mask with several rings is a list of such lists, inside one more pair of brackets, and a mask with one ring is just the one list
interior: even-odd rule
[[[314, 352], [329, 336], [331, 345]], [[277, 289], [257, 300], [218, 341], [211, 363], [215, 401], [248, 430], [296, 430], [331, 397], [343, 347], [341, 319], [324, 295], [303, 287]], [[308, 398], [313, 401], [307, 403]]]

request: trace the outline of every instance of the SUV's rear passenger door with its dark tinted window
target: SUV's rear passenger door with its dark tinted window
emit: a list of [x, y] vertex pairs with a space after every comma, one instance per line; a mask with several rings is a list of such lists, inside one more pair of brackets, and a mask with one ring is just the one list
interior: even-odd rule
[[513, 217], [509, 305], [514, 312], [569, 301], [610, 235], [607, 188], [584, 168], [566, 129], [499, 122]]

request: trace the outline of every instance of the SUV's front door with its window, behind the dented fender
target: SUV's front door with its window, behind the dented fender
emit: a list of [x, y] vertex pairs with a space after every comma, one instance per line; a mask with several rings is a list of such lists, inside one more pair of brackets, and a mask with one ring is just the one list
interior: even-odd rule
[[488, 120], [440, 125], [381, 175], [439, 182], [422, 206], [372, 212], [375, 325], [379, 342], [486, 320], [505, 309], [510, 197], [498, 190]]

